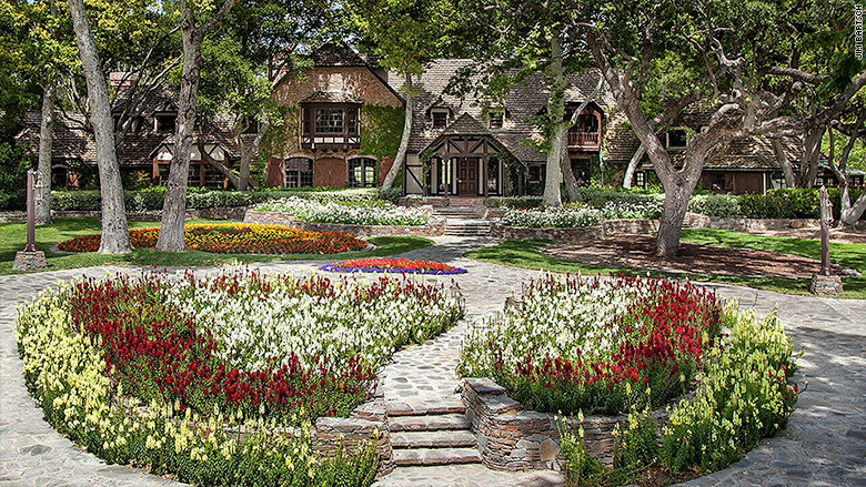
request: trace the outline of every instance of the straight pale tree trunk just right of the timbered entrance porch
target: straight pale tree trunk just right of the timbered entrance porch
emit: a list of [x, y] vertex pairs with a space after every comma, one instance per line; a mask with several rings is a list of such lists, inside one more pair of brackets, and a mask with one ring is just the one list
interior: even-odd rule
[[565, 119], [565, 74], [562, 65], [562, 44], [560, 32], [554, 32], [551, 39], [551, 71], [548, 73], [550, 98], [547, 99], [547, 119], [551, 124], [550, 149], [547, 151], [547, 170], [544, 177], [544, 204], [562, 207], [560, 183], [563, 160], [565, 132], [568, 128]]

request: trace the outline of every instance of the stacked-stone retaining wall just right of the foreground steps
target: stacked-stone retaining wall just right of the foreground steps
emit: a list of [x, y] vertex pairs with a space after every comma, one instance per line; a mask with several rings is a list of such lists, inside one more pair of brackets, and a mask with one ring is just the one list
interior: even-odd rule
[[[484, 465], [499, 470], [562, 469], [558, 427], [576, 429], [578, 425], [583, 426], [590, 456], [612, 466], [614, 427], [627, 422], [625, 415], [586, 416], [583, 423], [570, 416], [560, 417], [562, 426], [557, 426], [553, 414], [523, 409], [489, 378], [465, 379], [463, 400]], [[664, 424], [665, 408], [656, 409], [653, 416]]]

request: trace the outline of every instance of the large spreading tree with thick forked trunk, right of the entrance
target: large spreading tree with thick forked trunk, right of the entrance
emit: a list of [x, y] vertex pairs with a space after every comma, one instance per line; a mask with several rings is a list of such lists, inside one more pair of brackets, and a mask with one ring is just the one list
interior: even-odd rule
[[[791, 114], [806, 95], [802, 70], [791, 65], [793, 47], [800, 47], [787, 27], [793, 7], [786, 0], [618, 0], [584, 8], [573, 28], [585, 32], [596, 65], [662, 181], [665, 205], [655, 252], [673, 257], [707, 159], [737, 140], [804, 130], [804, 120]], [[818, 8], [807, 14], [823, 19]], [[658, 131], [697, 108], [712, 115], [687, 141], [677, 168]]]

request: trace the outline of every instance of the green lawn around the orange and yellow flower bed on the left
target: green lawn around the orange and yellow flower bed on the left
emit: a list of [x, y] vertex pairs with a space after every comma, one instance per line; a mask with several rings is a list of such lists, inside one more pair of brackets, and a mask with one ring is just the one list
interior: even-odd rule
[[[220, 223], [211, 220], [195, 220], [187, 223]], [[222, 222], [224, 223], [224, 222]], [[130, 222], [130, 229], [149, 229], [159, 226], [154, 222]], [[97, 253], [54, 254], [50, 251], [60, 242], [100, 232], [98, 219], [57, 219], [52, 224], [37, 227], [37, 247], [46, 253], [47, 271], [63, 268], [92, 267], [95, 265], [158, 265], [158, 266], [203, 266], [244, 264], [251, 262], [299, 261], [299, 260], [333, 260], [336, 256], [322, 254], [289, 254], [289, 255], [250, 255], [250, 254], [212, 254], [208, 252], [188, 251], [180, 253], [163, 253], [153, 248], [137, 248], [127, 255], [101, 255]], [[339, 258], [373, 257], [397, 255], [415, 248], [433, 245], [427, 239], [380, 236], [369, 240], [376, 246], [370, 252], [352, 252], [340, 254]], [[27, 225], [22, 223], [0, 224], [0, 275], [17, 274], [12, 271], [16, 252], [24, 247], [27, 242]]]

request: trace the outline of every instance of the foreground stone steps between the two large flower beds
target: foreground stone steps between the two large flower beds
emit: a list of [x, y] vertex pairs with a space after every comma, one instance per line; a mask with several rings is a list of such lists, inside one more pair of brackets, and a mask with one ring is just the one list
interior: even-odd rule
[[459, 399], [441, 407], [389, 409], [394, 465], [480, 464], [481, 454], [465, 412]]

